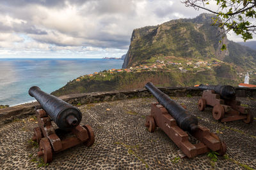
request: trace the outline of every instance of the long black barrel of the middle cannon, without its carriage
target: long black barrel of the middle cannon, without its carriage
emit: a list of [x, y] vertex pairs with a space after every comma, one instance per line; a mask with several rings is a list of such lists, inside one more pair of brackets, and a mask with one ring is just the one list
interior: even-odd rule
[[166, 108], [168, 113], [175, 118], [181, 129], [189, 132], [193, 132], [198, 129], [197, 118], [180, 106], [180, 104], [176, 103], [169, 96], [154, 87], [151, 82], [148, 82], [145, 87], [153, 94], [154, 97], [156, 97], [157, 101]]

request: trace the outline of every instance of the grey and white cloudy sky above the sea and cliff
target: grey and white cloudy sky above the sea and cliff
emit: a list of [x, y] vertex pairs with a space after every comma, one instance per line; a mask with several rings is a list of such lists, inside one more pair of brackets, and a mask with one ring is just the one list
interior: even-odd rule
[[0, 58], [121, 57], [133, 29], [203, 12], [179, 0], [0, 1]]

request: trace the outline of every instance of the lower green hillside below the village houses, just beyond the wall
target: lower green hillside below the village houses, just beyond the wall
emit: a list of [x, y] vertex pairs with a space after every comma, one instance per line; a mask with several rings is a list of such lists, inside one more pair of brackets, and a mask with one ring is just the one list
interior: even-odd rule
[[[225, 74], [222, 74], [222, 71], [225, 71]], [[237, 85], [241, 79], [237, 78], [234, 68], [227, 64], [217, 64], [213, 69], [190, 69], [186, 73], [175, 65], [154, 69], [138, 67], [80, 76], [52, 94], [61, 96], [83, 92], [141, 89], [148, 81], [156, 86], [176, 87], [200, 83]]]

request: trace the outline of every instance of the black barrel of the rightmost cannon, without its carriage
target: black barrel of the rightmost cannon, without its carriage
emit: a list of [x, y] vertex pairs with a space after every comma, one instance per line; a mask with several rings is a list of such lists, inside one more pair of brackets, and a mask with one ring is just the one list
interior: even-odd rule
[[220, 94], [224, 99], [232, 99], [236, 96], [236, 89], [231, 85], [203, 85], [198, 87], [200, 90], [214, 90], [216, 94]]

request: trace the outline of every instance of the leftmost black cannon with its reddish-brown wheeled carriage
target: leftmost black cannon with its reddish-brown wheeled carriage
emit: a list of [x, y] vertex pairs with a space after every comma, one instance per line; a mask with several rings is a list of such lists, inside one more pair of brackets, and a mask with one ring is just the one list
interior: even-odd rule
[[[36, 86], [29, 89], [29, 95], [40, 103], [40, 109], [35, 111], [38, 127], [33, 129], [32, 139], [39, 143], [38, 156], [43, 157], [45, 163], [52, 161], [52, 153], [61, 152], [80, 143], [93, 145], [93, 129], [90, 125], [79, 125], [82, 114], [78, 108]], [[54, 128], [52, 121], [57, 128]]]

